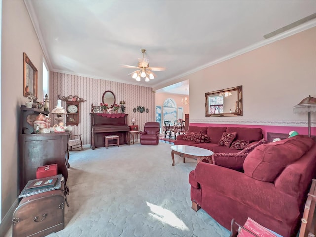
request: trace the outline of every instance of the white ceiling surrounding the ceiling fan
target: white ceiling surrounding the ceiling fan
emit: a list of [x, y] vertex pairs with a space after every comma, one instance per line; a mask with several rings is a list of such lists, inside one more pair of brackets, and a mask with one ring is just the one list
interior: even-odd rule
[[[149, 87], [266, 43], [272, 38], [263, 35], [316, 12], [315, 0], [25, 3], [50, 70]], [[305, 25], [315, 26], [315, 19]], [[150, 82], [135, 81], [127, 76], [134, 70], [120, 66], [137, 66], [142, 48], [150, 66], [167, 68]], [[185, 88], [188, 82], [171, 92]]]

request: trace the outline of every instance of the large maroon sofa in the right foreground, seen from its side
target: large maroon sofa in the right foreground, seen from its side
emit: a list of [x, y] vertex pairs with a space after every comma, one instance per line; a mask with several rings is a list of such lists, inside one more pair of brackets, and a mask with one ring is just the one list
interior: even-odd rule
[[189, 174], [192, 208], [200, 207], [227, 229], [248, 217], [284, 237], [299, 229], [307, 193], [316, 176], [316, 144], [294, 136], [257, 146], [243, 172], [197, 163]]

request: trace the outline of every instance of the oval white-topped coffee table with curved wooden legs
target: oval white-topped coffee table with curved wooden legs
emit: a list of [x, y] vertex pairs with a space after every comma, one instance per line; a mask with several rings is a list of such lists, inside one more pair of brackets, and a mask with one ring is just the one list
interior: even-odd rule
[[213, 152], [211, 150], [188, 145], [171, 146], [171, 150], [172, 166], [174, 166], [174, 154], [183, 157], [183, 163], [186, 162], [186, 157], [197, 159], [197, 162], [201, 162], [203, 159], [211, 158], [213, 155]]

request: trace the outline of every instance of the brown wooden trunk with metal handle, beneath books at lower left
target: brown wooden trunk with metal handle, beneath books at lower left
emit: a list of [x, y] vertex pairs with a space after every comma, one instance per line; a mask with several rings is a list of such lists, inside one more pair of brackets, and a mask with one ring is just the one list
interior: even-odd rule
[[42, 237], [64, 229], [64, 187], [23, 197], [13, 213], [12, 237]]

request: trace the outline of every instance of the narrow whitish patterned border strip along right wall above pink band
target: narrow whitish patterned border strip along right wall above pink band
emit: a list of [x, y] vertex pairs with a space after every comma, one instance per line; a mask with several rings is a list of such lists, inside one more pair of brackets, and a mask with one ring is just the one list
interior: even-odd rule
[[[307, 121], [279, 121], [279, 120], [209, 120], [190, 119], [190, 123], [206, 124], [236, 124], [236, 125], [262, 125], [262, 126], [282, 126], [282, 127], [307, 127]], [[311, 121], [311, 127], [316, 127], [316, 121]]]

